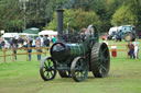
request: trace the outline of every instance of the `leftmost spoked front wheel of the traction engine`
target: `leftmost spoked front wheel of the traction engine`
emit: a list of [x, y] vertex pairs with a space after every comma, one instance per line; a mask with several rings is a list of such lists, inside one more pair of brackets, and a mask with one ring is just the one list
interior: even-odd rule
[[46, 57], [41, 61], [40, 74], [44, 81], [53, 80], [56, 75], [56, 62], [52, 57]]

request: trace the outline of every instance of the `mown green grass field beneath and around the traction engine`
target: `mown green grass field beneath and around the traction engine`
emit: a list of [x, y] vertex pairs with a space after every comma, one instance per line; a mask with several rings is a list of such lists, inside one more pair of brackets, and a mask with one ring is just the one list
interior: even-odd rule
[[53, 81], [44, 82], [36, 56], [32, 61], [22, 61], [25, 58], [19, 57], [17, 61], [0, 63], [0, 93], [141, 93], [141, 54], [137, 60], [126, 55], [119, 53], [117, 58], [111, 57], [107, 78], [94, 78], [89, 72], [88, 79], [80, 83], [72, 78], [62, 79], [58, 74]]

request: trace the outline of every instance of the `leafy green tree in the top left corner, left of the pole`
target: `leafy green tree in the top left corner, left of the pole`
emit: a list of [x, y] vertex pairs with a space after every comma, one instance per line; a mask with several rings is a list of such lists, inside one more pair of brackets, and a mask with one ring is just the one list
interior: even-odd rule
[[0, 28], [17, 32], [23, 26], [17, 0], [0, 1]]

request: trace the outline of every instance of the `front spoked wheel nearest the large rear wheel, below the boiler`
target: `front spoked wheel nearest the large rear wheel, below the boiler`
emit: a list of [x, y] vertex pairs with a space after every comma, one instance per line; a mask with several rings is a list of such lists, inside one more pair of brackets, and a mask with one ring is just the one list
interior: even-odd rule
[[70, 73], [76, 82], [84, 81], [88, 75], [88, 63], [82, 57], [76, 57], [70, 66]]

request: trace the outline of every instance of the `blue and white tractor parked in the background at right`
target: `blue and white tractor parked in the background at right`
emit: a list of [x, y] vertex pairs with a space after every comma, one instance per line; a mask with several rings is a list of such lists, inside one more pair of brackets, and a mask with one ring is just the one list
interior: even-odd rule
[[135, 30], [132, 25], [122, 25], [118, 27], [111, 27], [108, 33], [108, 39], [124, 39], [127, 42], [134, 40]]

